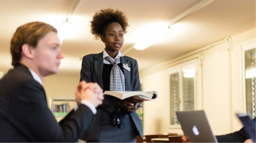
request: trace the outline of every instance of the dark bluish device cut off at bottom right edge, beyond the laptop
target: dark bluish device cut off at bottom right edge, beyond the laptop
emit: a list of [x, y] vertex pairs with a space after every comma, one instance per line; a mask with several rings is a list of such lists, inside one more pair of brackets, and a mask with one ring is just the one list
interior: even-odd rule
[[236, 116], [242, 122], [242, 124], [244, 126], [244, 129], [245, 129], [245, 133], [247, 133], [247, 135], [255, 143], [256, 142], [256, 125], [255, 125], [255, 121], [253, 121], [248, 114], [236, 113]]

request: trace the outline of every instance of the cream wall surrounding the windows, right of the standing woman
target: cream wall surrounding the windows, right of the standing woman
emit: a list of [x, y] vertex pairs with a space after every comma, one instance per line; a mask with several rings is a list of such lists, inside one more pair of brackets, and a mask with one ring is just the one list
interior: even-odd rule
[[[255, 28], [231, 36], [228, 41], [213, 47], [202, 47], [203, 50], [200, 52], [203, 55], [202, 84], [201, 99], [198, 101], [202, 102], [202, 109], [206, 111], [210, 126], [216, 135], [230, 133], [242, 127], [235, 116], [236, 112], [242, 113], [243, 106], [240, 44], [252, 39], [255, 39]], [[193, 57], [195, 54], [190, 56]], [[169, 126], [168, 69], [174, 64], [167, 63], [153, 67], [154, 72], [149, 70], [140, 72], [143, 91], [156, 90], [159, 94], [157, 100], [144, 102], [144, 135], [164, 132], [182, 133], [182, 130], [171, 129]]]

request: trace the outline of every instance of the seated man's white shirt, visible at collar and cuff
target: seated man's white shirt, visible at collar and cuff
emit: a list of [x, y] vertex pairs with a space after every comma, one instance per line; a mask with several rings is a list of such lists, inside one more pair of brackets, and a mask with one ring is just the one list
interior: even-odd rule
[[[33, 78], [42, 85], [42, 80], [39, 77], [39, 75], [37, 73], [35, 73], [33, 70], [31, 70], [31, 69], [28, 69], [28, 70], [32, 74]], [[89, 101], [82, 100], [81, 104], [84, 104], [85, 106], [88, 106], [93, 114], [97, 113], [97, 110], [96, 110], [95, 106], [93, 106], [92, 103], [90, 103]], [[74, 107], [74, 110], [77, 110], [77, 106]]]

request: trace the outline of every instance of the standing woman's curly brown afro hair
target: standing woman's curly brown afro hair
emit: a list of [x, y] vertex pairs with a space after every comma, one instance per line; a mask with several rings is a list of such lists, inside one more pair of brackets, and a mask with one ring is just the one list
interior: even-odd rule
[[91, 33], [96, 40], [100, 40], [101, 35], [105, 35], [107, 27], [112, 22], [119, 23], [123, 28], [124, 34], [127, 32], [126, 28], [129, 26], [128, 18], [123, 11], [107, 8], [95, 13], [91, 20]]

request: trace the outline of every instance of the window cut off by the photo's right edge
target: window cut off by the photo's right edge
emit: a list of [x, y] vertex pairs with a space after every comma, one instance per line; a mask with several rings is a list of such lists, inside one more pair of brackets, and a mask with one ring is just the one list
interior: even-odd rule
[[256, 48], [255, 41], [242, 45], [242, 66], [243, 66], [243, 89], [245, 100], [245, 112], [252, 118], [255, 114], [255, 92], [256, 92]]

